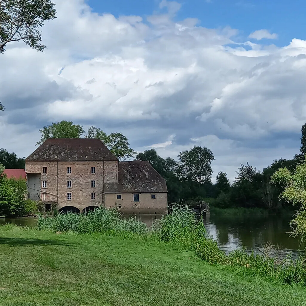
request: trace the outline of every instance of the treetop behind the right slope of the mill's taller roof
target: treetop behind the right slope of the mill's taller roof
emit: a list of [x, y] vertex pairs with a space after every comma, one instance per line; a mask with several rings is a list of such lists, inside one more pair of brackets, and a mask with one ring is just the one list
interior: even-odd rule
[[119, 160], [134, 158], [137, 154], [136, 151], [129, 147], [129, 139], [119, 132], [107, 135], [101, 129], [91, 126], [85, 137], [100, 139]]

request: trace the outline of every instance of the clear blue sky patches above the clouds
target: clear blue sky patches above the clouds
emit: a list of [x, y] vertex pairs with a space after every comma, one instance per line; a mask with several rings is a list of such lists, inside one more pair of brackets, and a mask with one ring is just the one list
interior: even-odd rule
[[[177, 1], [181, 9], [176, 20], [198, 18], [200, 25], [206, 28], [230, 26], [238, 29], [241, 41], [245, 41], [251, 32], [267, 29], [277, 33], [277, 40], [267, 39], [265, 43], [277, 46], [289, 44], [292, 38], [305, 39], [304, 0], [188, 0]], [[156, 0], [89, 0], [88, 4], [98, 13], [138, 15], [146, 17], [154, 11], [160, 11]]]

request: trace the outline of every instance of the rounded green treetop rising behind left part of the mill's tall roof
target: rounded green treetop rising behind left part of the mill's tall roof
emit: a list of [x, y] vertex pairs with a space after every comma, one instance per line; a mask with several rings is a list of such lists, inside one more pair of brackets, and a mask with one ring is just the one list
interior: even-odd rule
[[82, 125], [73, 124], [72, 121], [61, 121], [44, 126], [39, 132], [43, 135], [36, 145], [42, 144], [49, 138], [81, 138], [85, 131]]

